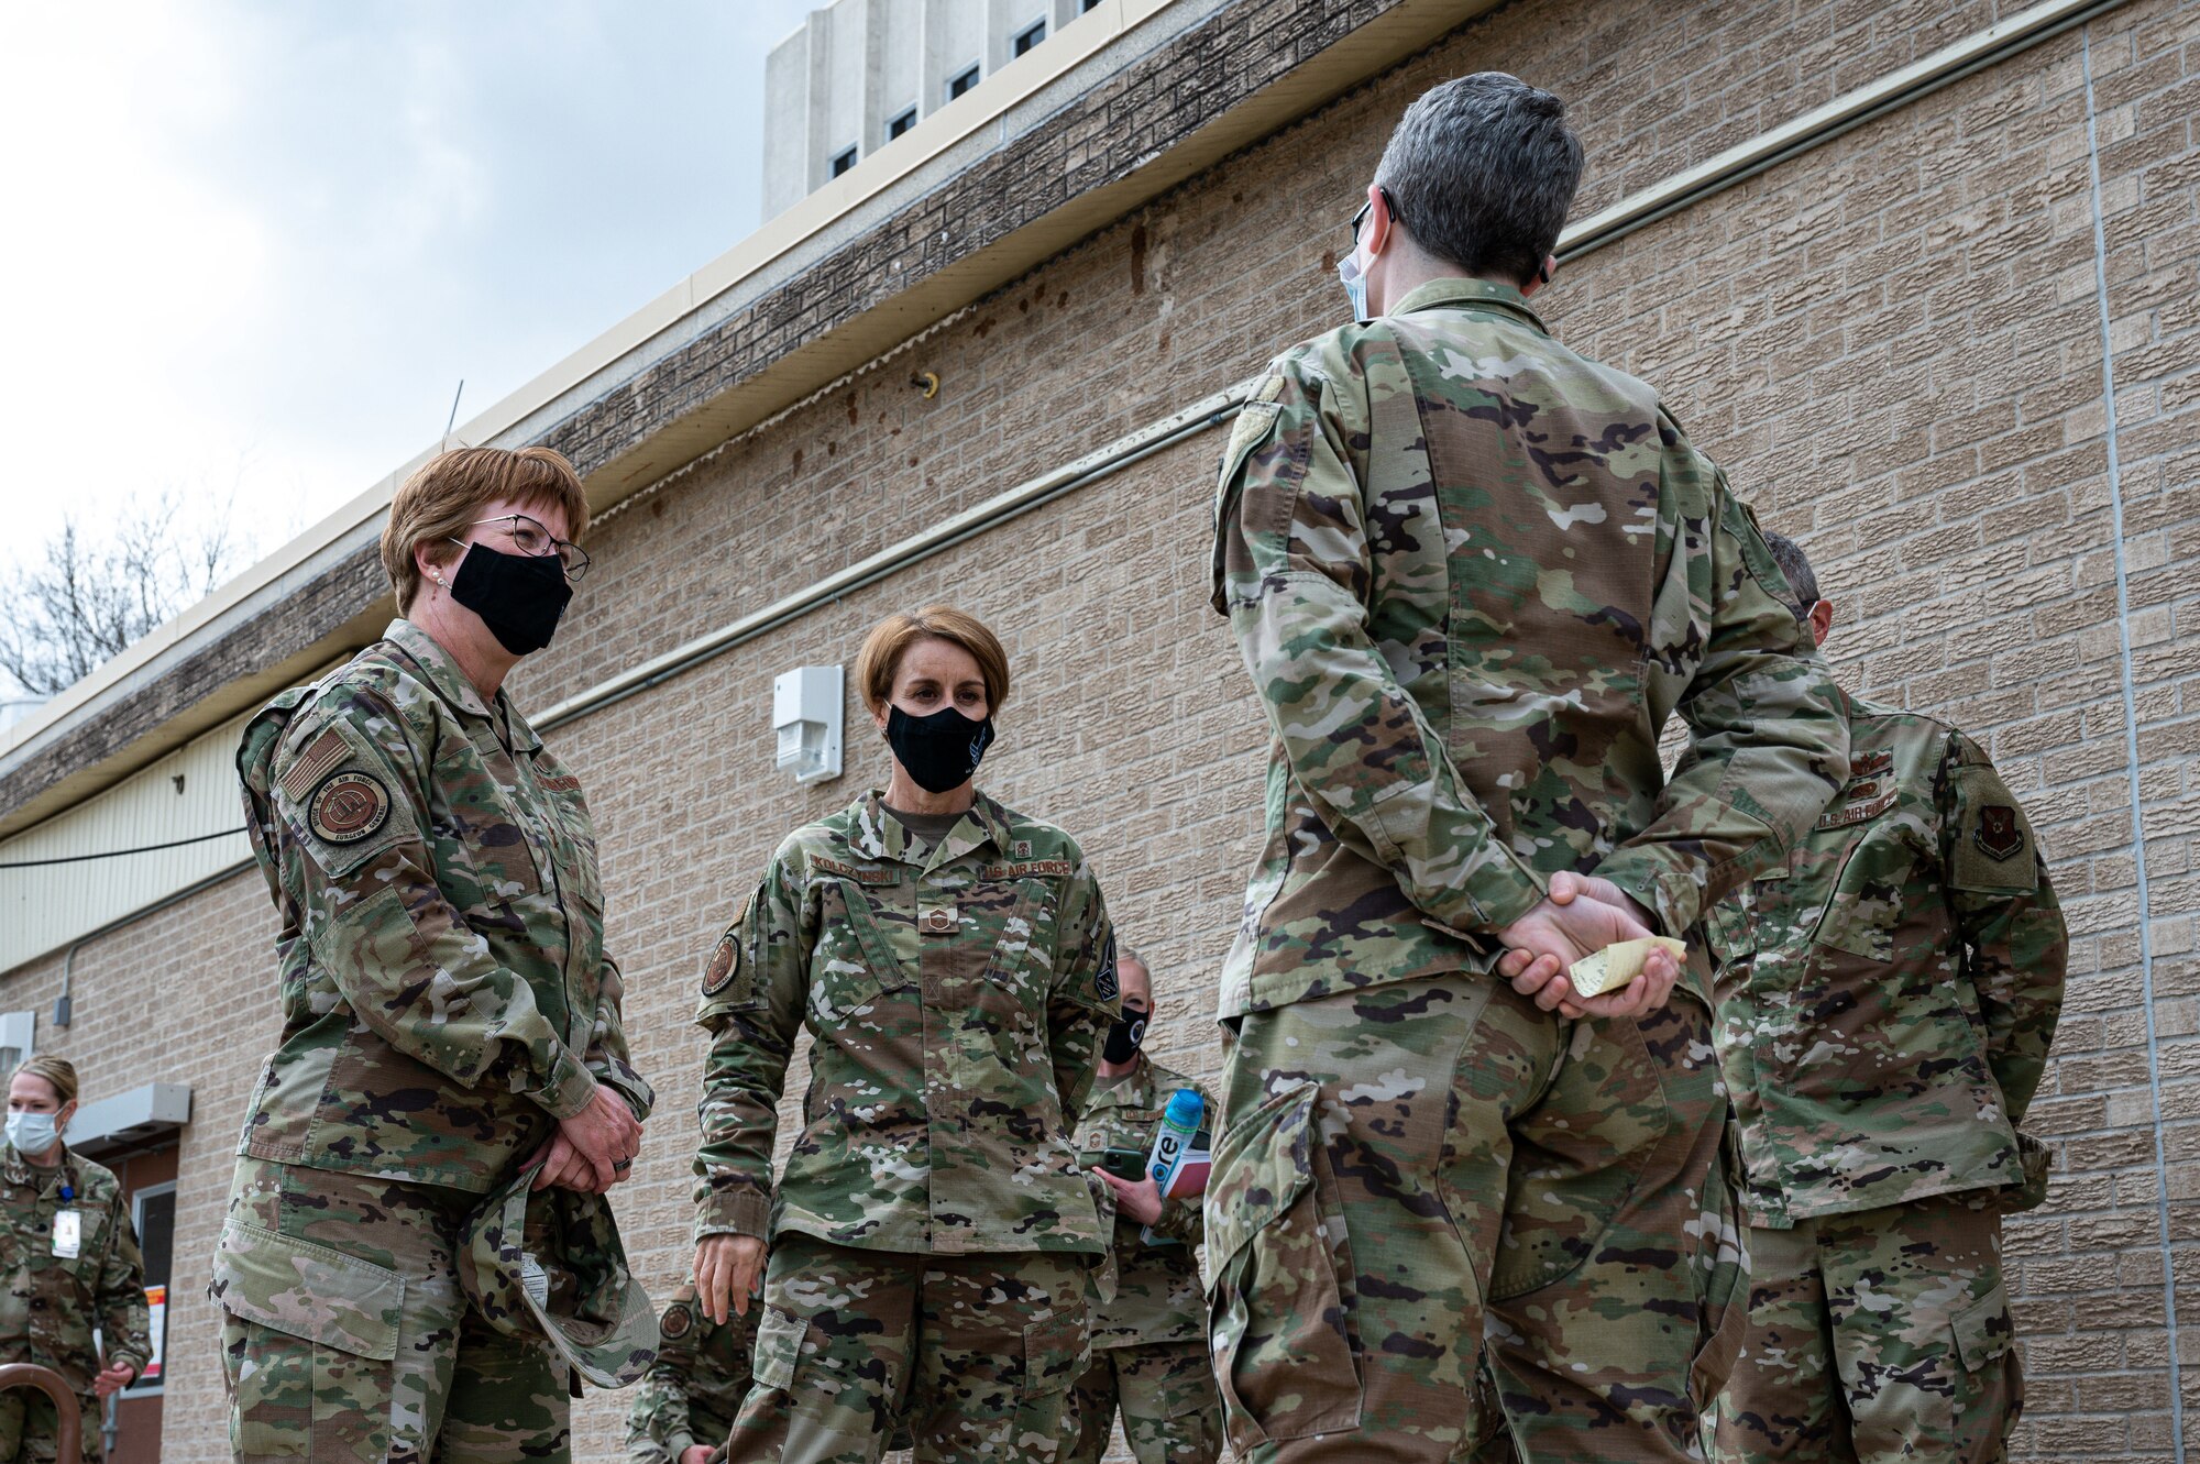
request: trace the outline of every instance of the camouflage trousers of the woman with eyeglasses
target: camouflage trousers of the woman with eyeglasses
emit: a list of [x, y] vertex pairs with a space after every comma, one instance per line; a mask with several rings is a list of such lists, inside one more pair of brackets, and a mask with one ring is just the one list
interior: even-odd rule
[[[229, 1442], [240, 1464], [572, 1457], [570, 1369], [548, 1339], [493, 1332], [460, 1288], [455, 1249], [480, 1202], [440, 1185], [238, 1161], [229, 1224], [282, 1238], [266, 1249], [279, 1249], [282, 1266], [306, 1282], [293, 1297], [229, 1295], [240, 1279], [216, 1295]], [[224, 1249], [235, 1235], [224, 1235]], [[216, 1277], [220, 1290], [220, 1264]], [[345, 1297], [361, 1295], [374, 1297], [370, 1308], [387, 1306], [343, 1317]], [[321, 1301], [308, 1306], [306, 1297]], [[378, 1356], [350, 1350], [365, 1332], [381, 1339], [370, 1347]]]

